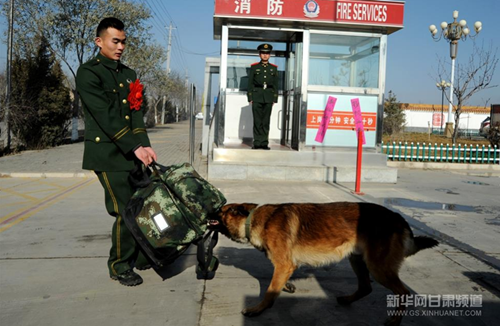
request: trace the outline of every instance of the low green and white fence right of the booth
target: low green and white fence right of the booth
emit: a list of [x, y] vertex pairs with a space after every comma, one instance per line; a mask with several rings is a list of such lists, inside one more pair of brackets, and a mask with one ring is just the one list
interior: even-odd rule
[[391, 161], [500, 164], [500, 150], [490, 145], [438, 146], [436, 143], [433, 146], [430, 143], [387, 142], [387, 145], [382, 145], [382, 153], [387, 154], [387, 159]]

